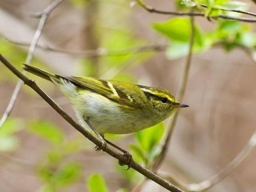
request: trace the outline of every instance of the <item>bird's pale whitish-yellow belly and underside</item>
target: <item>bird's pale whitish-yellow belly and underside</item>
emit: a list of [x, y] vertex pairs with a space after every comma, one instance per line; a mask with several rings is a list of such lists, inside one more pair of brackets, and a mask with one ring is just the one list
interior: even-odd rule
[[[96, 93], [83, 95], [80, 99], [72, 100], [76, 116], [83, 127], [89, 126], [85, 119], [101, 133], [127, 134], [141, 131], [160, 122], [158, 118], [145, 116], [141, 109], [123, 108]], [[90, 129], [90, 128], [89, 128]]]

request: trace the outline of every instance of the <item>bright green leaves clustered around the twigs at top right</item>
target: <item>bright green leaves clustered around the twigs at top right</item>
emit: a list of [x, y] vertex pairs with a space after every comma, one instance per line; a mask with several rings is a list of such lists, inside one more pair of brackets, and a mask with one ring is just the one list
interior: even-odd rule
[[[207, 5], [207, 8], [200, 6]], [[182, 6], [180, 6], [182, 4]], [[187, 6], [185, 6], [187, 4]], [[228, 0], [198, 0], [198, 1], [176, 1], [178, 9], [189, 9], [191, 4], [194, 9], [204, 12], [205, 17], [218, 17], [218, 15], [232, 15], [241, 17], [241, 13], [226, 12], [222, 9], [247, 10], [248, 4], [239, 1]], [[185, 7], [184, 7], [185, 6]], [[191, 20], [184, 17], [175, 17], [164, 22], [154, 22], [153, 29], [167, 37], [169, 46], [166, 49], [166, 56], [170, 60], [175, 60], [187, 56], [191, 38]], [[200, 53], [209, 50], [216, 45], [223, 45], [226, 51], [235, 48], [243, 48], [246, 51], [255, 50], [255, 32], [252, 24], [239, 22], [237, 20], [217, 19], [214, 27], [208, 31], [201, 29], [200, 23], [194, 21], [194, 44], [193, 53]]]

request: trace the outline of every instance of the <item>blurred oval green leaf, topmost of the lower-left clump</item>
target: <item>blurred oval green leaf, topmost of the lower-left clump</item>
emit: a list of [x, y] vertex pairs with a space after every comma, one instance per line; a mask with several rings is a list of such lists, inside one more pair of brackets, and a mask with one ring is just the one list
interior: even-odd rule
[[55, 145], [62, 143], [64, 140], [63, 132], [56, 125], [49, 122], [31, 122], [28, 131]]

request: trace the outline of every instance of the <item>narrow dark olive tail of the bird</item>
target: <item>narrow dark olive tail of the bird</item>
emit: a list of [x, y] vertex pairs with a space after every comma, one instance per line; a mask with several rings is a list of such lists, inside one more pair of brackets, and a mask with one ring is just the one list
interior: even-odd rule
[[42, 70], [40, 68], [37, 68], [35, 66], [28, 65], [25, 63], [23, 64], [23, 68], [27, 72], [30, 72], [31, 74], [34, 74], [35, 76], [42, 77], [42, 78], [44, 78], [48, 81], [51, 81], [53, 83], [60, 83], [60, 79], [63, 78], [61, 76], [51, 74], [51, 73], [47, 72], [46, 70]]

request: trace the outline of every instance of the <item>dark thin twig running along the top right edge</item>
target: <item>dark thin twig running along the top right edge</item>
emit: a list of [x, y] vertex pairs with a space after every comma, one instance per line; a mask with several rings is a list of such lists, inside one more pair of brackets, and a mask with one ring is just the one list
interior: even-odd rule
[[[157, 10], [156, 8], [153, 8], [152, 6], [146, 5], [142, 0], [137, 0], [137, 3], [142, 6], [145, 10], [147, 10], [150, 13], [158, 13], [163, 15], [177, 15], [177, 16], [196, 16], [196, 17], [205, 17], [205, 13], [194, 13], [194, 12], [171, 12], [171, 11], [164, 11], [164, 10]], [[205, 17], [209, 18], [209, 17]], [[239, 20], [243, 22], [256, 22], [256, 19], [251, 19], [247, 17], [232, 17], [227, 15], [218, 15], [216, 17], [210, 17], [212, 19], [228, 19], [228, 20]]]

